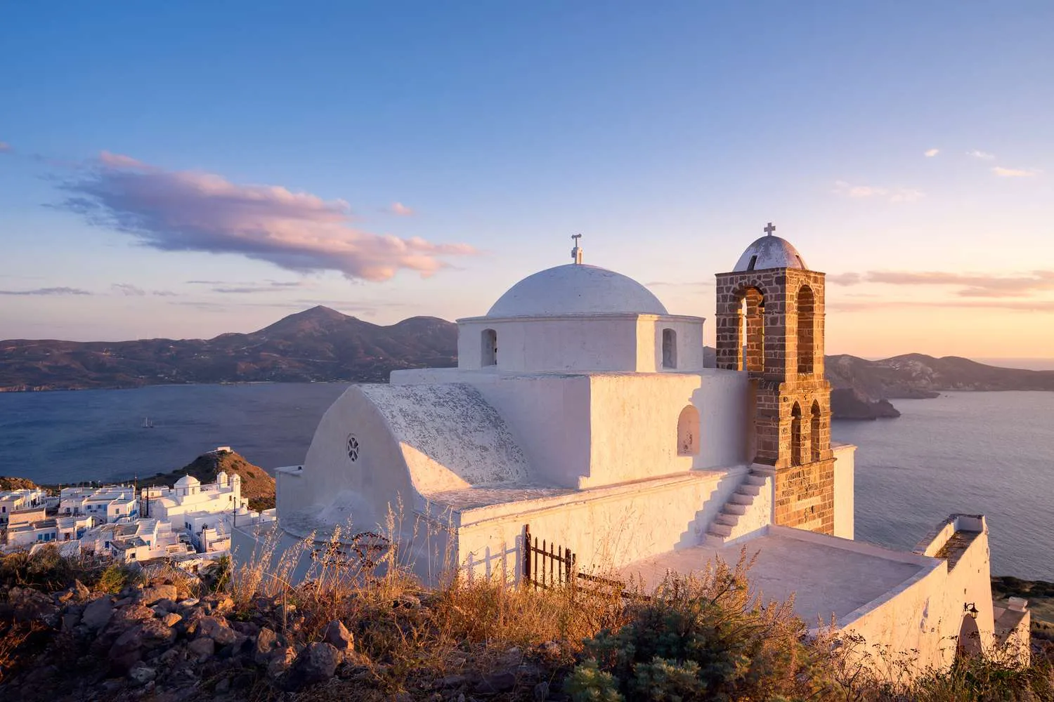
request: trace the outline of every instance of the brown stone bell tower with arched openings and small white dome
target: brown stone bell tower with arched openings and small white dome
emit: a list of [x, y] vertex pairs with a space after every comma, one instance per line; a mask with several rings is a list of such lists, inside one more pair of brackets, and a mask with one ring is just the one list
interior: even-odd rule
[[717, 274], [717, 365], [755, 389], [755, 463], [775, 475], [774, 523], [834, 534], [831, 384], [823, 377], [824, 274], [766, 236]]

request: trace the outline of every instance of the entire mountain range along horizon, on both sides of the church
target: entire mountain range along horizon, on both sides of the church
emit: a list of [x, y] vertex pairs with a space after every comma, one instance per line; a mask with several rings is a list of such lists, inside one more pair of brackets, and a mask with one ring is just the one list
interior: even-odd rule
[[[713, 349], [707, 349], [713, 359]], [[223, 382], [385, 382], [398, 368], [457, 364], [457, 326], [411, 317], [380, 326], [316, 306], [251, 334], [117, 342], [0, 341], [0, 392]], [[1054, 390], [1054, 370], [907, 354], [826, 357], [836, 419], [896, 417], [889, 400], [941, 390]]]

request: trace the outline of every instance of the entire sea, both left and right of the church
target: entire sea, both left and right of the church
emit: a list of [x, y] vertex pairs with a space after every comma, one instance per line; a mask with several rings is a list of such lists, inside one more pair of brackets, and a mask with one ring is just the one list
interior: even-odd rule
[[[132, 480], [221, 445], [265, 468], [295, 465], [347, 387], [0, 393], [0, 475]], [[835, 441], [858, 446], [856, 538], [912, 548], [950, 514], [984, 514], [994, 574], [1054, 581], [1054, 393], [946, 393], [894, 404], [898, 419], [832, 427]]]

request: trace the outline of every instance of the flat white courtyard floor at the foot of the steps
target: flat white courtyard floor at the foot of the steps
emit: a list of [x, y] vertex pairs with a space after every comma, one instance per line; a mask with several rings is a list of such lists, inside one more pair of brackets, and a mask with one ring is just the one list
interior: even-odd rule
[[843, 622], [856, 609], [884, 599], [907, 581], [934, 567], [932, 559], [874, 544], [786, 527], [721, 547], [697, 546], [630, 563], [625, 579], [638, 579], [645, 590], [659, 585], [668, 571], [701, 573], [715, 558], [734, 566], [746, 548], [757, 554], [748, 573], [750, 584], [765, 600], [795, 595], [795, 613], [809, 626]]

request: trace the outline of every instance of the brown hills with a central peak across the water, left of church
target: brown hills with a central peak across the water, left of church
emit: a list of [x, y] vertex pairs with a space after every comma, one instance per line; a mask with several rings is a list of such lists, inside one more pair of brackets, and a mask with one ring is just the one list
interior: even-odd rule
[[456, 364], [457, 329], [434, 317], [380, 326], [329, 307], [214, 339], [0, 341], [0, 390], [162, 383], [384, 382], [396, 368]]

